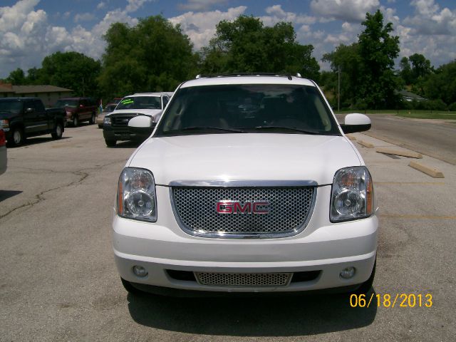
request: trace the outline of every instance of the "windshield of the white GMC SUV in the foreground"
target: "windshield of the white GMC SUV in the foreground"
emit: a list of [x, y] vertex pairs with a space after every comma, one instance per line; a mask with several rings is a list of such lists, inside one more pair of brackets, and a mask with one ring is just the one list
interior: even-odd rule
[[316, 87], [243, 84], [180, 88], [155, 136], [234, 132], [341, 134]]

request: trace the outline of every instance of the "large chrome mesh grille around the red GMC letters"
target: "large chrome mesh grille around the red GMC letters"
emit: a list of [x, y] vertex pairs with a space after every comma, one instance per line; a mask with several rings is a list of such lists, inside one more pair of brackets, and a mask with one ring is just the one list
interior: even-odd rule
[[[297, 234], [311, 215], [314, 192], [314, 187], [172, 187], [181, 228], [218, 237]], [[223, 200], [268, 201], [269, 213], [219, 214], [217, 202]]]

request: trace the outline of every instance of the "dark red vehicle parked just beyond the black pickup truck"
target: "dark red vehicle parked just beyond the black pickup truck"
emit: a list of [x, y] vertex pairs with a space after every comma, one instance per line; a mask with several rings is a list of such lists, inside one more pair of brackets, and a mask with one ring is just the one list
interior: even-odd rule
[[66, 120], [74, 127], [83, 121], [90, 125], [95, 123], [98, 105], [93, 98], [61, 98], [54, 107], [63, 107], [66, 110]]

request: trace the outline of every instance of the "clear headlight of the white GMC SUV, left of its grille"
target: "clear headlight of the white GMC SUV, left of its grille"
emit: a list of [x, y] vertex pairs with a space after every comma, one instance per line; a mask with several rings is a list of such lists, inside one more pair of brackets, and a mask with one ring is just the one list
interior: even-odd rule
[[149, 170], [125, 167], [119, 177], [117, 213], [121, 217], [157, 221], [155, 182]]

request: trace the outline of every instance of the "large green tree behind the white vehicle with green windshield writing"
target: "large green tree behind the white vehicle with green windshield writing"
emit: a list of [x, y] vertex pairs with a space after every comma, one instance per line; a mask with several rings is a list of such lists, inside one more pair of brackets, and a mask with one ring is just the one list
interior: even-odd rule
[[140, 19], [137, 26], [115, 23], [105, 34], [103, 97], [174, 90], [195, 76], [197, 56], [180, 26], [162, 16]]

